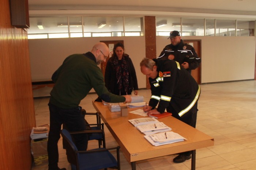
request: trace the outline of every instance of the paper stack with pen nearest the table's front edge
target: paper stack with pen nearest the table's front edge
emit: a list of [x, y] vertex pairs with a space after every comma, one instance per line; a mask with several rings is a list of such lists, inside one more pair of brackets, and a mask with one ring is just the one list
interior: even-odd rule
[[174, 132], [161, 132], [153, 135], [145, 135], [144, 138], [147, 139], [147, 141], [154, 146], [160, 146], [164, 144], [182, 142], [184, 140], [187, 140], [186, 138]]

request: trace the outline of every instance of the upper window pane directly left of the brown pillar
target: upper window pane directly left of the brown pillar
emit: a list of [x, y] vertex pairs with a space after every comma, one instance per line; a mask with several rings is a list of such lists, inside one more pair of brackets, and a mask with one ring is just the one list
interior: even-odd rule
[[[144, 35], [142, 28], [143, 28], [143, 17], [124, 17], [125, 36]], [[132, 32], [135, 32], [135, 33], [132, 34]]]

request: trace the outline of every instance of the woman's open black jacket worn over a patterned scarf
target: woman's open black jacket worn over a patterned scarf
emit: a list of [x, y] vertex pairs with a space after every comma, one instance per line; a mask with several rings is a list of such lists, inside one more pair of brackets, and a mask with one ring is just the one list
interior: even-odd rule
[[[138, 81], [137, 81], [135, 68], [133, 66], [131, 58], [129, 58], [128, 54], [124, 54], [124, 58], [126, 59], [128, 64], [128, 72], [129, 72], [128, 93], [131, 94], [133, 89], [138, 90]], [[105, 85], [106, 85], [106, 88], [109, 90], [109, 92], [116, 94], [115, 92], [117, 91], [117, 89], [115, 87], [117, 87], [117, 79], [116, 79], [113, 60], [114, 60], [114, 57], [110, 57], [106, 65]]]

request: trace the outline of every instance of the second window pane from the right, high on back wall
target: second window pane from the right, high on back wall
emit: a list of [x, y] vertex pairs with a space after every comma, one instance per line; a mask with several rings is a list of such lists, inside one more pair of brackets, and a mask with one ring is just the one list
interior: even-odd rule
[[235, 36], [235, 20], [216, 20], [216, 36]]

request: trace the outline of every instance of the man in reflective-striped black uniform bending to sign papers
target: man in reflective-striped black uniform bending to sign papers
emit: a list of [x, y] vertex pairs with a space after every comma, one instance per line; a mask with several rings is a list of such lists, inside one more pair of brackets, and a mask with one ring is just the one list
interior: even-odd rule
[[[173, 117], [195, 128], [200, 86], [187, 70], [170, 59], [149, 58], [140, 62], [140, 70], [151, 85], [151, 98], [148, 106], [143, 108], [144, 112], [161, 114], [166, 109]], [[155, 108], [157, 104], [158, 108]], [[184, 162], [191, 158], [191, 153], [182, 152], [173, 162]]]

